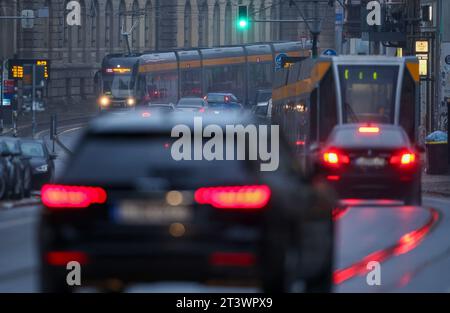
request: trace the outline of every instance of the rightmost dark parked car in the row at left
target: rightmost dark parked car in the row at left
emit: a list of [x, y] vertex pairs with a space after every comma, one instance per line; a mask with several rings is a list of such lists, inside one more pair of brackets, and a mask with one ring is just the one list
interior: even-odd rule
[[21, 139], [20, 147], [22, 153], [30, 158], [33, 189], [38, 190], [43, 184], [51, 182], [55, 173], [53, 161], [56, 159], [56, 155], [48, 151], [44, 141]]

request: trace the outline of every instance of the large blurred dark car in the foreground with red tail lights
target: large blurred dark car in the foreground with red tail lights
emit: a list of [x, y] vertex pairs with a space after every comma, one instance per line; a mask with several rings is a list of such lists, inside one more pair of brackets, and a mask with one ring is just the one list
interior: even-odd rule
[[[256, 122], [203, 118], [223, 132], [231, 123]], [[42, 188], [42, 290], [70, 291], [66, 266], [77, 261], [83, 286], [113, 290], [175, 280], [279, 292], [300, 280], [306, 291], [329, 291], [334, 202], [302, 177], [284, 141], [274, 171], [257, 160], [178, 160], [171, 134], [180, 125], [193, 134], [194, 115], [91, 122], [63, 174]]]

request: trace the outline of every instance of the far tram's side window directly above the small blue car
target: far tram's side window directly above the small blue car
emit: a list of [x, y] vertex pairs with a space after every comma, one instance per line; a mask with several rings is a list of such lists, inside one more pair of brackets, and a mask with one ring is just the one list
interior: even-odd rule
[[222, 65], [204, 69], [206, 93], [229, 92], [244, 97], [244, 64]]

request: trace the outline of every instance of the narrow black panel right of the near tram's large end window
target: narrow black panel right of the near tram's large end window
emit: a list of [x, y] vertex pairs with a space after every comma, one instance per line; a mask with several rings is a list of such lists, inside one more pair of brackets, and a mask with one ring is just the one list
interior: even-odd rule
[[415, 141], [415, 110], [416, 110], [416, 84], [408, 71], [403, 79], [402, 96], [400, 101], [400, 126], [408, 137]]

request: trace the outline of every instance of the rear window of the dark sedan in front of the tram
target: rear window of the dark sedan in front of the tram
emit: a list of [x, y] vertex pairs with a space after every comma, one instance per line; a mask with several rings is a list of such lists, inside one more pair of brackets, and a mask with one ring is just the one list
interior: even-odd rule
[[407, 138], [396, 129], [380, 129], [379, 133], [360, 133], [356, 129], [340, 129], [336, 131], [330, 143], [338, 147], [374, 147], [396, 148], [408, 144]]

